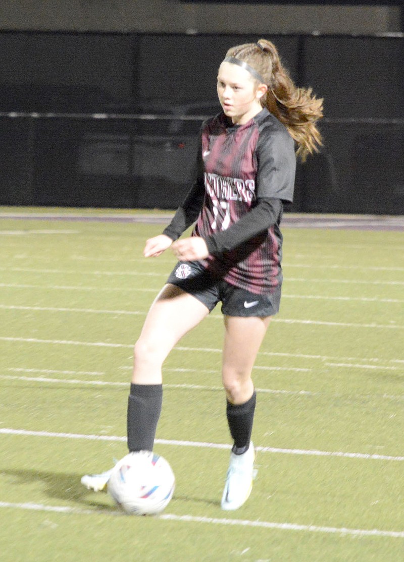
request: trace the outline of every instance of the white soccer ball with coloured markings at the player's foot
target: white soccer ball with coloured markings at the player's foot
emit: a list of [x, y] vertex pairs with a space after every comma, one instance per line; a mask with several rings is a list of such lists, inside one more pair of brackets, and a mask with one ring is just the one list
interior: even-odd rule
[[116, 464], [108, 491], [129, 515], [155, 515], [168, 505], [175, 486], [171, 466], [151, 451], [132, 452]]

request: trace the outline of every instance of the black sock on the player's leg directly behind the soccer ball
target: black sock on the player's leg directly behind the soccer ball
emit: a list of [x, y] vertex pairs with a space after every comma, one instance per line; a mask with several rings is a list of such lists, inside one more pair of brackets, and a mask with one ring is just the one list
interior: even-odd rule
[[131, 384], [127, 416], [129, 451], [153, 450], [162, 401], [162, 384]]

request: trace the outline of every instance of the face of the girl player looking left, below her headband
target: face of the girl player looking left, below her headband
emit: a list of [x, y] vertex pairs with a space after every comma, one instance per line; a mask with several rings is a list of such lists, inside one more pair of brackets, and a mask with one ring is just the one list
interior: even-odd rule
[[257, 115], [262, 106], [260, 99], [267, 87], [253, 79], [248, 70], [222, 62], [217, 76], [217, 94], [220, 105], [232, 123], [243, 125], [254, 115]]

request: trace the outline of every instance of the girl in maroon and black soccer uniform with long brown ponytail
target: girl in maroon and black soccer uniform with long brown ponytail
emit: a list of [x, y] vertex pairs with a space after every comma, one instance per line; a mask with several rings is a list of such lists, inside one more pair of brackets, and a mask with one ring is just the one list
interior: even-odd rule
[[[321, 144], [316, 121], [322, 100], [311, 89], [295, 87], [265, 39], [226, 53], [217, 93], [223, 111], [202, 125], [194, 185], [163, 234], [147, 240], [143, 252], [159, 256], [171, 246], [179, 261], [134, 346], [127, 431], [129, 451], [152, 450], [163, 362], [221, 301], [222, 381], [234, 441], [221, 505], [234, 510], [252, 489], [252, 369], [279, 310], [280, 222], [284, 203], [293, 201], [295, 145], [304, 160]], [[195, 221], [191, 237], [178, 239]], [[102, 490], [110, 472], [86, 475], [82, 483]]]

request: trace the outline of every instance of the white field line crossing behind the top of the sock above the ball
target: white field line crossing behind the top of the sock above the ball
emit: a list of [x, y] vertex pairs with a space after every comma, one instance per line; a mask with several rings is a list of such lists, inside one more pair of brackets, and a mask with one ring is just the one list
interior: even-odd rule
[[[7, 369], [12, 370], [12, 369]], [[90, 385], [90, 386], [113, 386], [113, 387], [124, 387], [128, 388], [128, 382], [110, 382], [106, 380], [83, 380], [83, 379], [52, 379], [48, 377], [26, 377], [25, 375], [20, 375], [17, 377], [16, 375], [0, 375], [0, 380], [22, 380], [24, 382], [37, 382], [37, 383], [56, 383], [56, 384], [75, 384], [79, 386], [80, 384]], [[178, 389], [185, 389], [185, 390], [203, 390], [203, 391], [223, 391], [223, 387], [216, 387], [216, 386], [207, 386], [203, 384], [174, 384], [174, 383], [164, 383], [164, 388], [178, 388]], [[308, 390], [276, 390], [272, 388], [255, 388], [259, 394], [280, 394], [280, 395], [288, 395], [288, 396], [326, 396], [322, 392], [312, 392]], [[344, 395], [341, 394], [333, 394], [330, 395], [331, 398], [343, 398]], [[404, 396], [399, 395], [360, 395], [361, 398], [388, 398], [389, 400], [404, 400]]]

